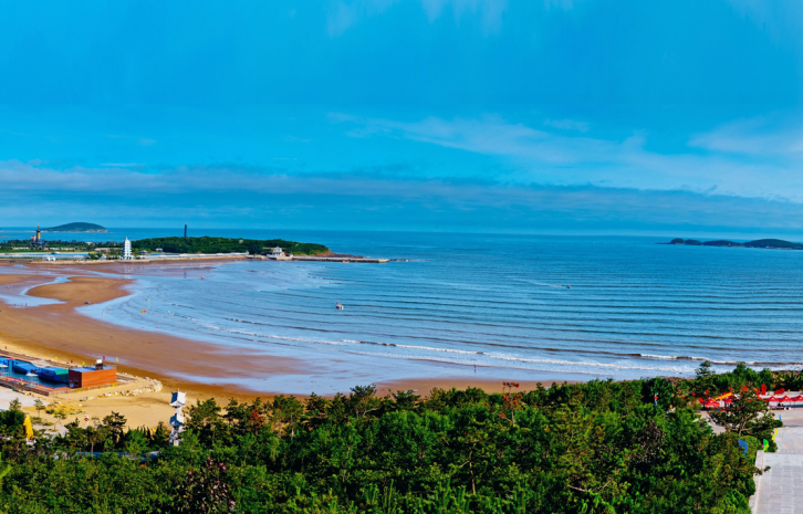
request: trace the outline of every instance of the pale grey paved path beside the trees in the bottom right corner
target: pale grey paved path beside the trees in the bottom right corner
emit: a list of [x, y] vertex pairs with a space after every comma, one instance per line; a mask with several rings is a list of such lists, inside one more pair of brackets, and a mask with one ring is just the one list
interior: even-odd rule
[[[796, 409], [795, 409], [796, 410]], [[778, 431], [778, 452], [764, 453], [772, 468], [761, 476], [758, 514], [803, 514], [803, 412], [781, 412], [784, 428]]]

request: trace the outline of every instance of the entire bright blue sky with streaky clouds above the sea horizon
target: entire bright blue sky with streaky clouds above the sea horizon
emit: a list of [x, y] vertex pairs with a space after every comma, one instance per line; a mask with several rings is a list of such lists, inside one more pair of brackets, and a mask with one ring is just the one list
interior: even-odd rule
[[803, 239], [803, 3], [0, 6], [0, 225]]

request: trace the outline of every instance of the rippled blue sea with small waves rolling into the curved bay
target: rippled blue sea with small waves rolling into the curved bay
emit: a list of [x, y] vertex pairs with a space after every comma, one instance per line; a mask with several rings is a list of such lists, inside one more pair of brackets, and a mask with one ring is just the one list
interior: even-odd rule
[[[111, 229], [44, 235], [121, 241], [180, 233]], [[301, 382], [331, 392], [357, 382], [427, 377], [690, 376], [703, 360], [722, 370], [739, 361], [757, 369], [803, 366], [801, 251], [667, 245], [660, 244], [664, 237], [195, 229], [190, 234], [281, 238], [393, 259], [133, 269], [131, 296], [82, 307], [122, 326], [310, 363], [307, 373], [274, 384], [278, 389]], [[0, 230], [0, 238], [18, 237]], [[231, 381], [255, 389], [264, 379]]]

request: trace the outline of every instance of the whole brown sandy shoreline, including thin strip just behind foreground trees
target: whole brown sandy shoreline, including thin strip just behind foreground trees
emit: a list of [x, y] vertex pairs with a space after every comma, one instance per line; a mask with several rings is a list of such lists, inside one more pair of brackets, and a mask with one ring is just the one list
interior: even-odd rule
[[[0, 263], [3, 265], [6, 263]], [[191, 266], [192, 263], [181, 263]], [[169, 266], [181, 269], [179, 263]], [[60, 361], [81, 363], [94, 358], [106, 357], [109, 364], [118, 366], [121, 371], [135, 376], [156, 378], [167, 389], [188, 391], [195, 398], [216, 397], [219, 400], [228, 398], [253, 399], [255, 397], [272, 398], [279, 394], [293, 394], [306, 397], [313, 390], [277, 391], [270, 386], [265, 390], [251, 388], [222, 381], [232, 370], [239, 369], [251, 374], [265, 374], [277, 376], [294, 373], [310, 373], [313, 363], [288, 357], [267, 355], [263, 352], [249, 350], [242, 347], [223, 348], [208, 342], [177, 337], [166, 333], [146, 329], [123, 327], [102, 319], [95, 319], [77, 311], [77, 307], [92, 304], [102, 304], [133, 294], [131, 290], [136, 281], [125, 277], [98, 277], [85, 273], [81, 266], [58, 266], [58, 271], [67, 277], [66, 282], [52, 283], [52, 274], [42, 274], [35, 266], [20, 269], [19, 274], [0, 274], [0, 285], [29, 287], [27, 295], [33, 298], [56, 301], [59, 303], [29, 306], [24, 308], [10, 307], [0, 301], [0, 344], [8, 346], [9, 350], [27, 355], [52, 358]], [[50, 270], [50, 268], [48, 268]], [[15, 271], [15, 270], [14, 270]], [[106, 271], [106, 270], [104, 270]], [[124, 274], [124, 269], [111, 269]], [[119, 359], [117, 363], [115, 359]], [[394, 380], [376, 380], [378, 394], [388, 390], [417, 390], [427, 394], [432, 388], [450, 389], [452, 387], [465, 389], [478, 387], [489, 392], [501, 391], [501, 384], [507, 379], [504, 370], [500, 368], [498, 380], [488, 378], [471, 378], [466, 376], [450, 376], [448, 367], [440, 376], [413, 377]], [[561, 374], [544, 375], [540, 381], [544, 385], [562, 380]], [[221, 381], [216, 381], [216, 378]], [[523, 386], [534, 388], [539, 380], [532, 379], [522, 382]], [[355, 379], [353, 386], [358, 385]], [[347, 394], [347, 390], [341, 391]], [[322, 395], [332, 396], [332, 395]]]

